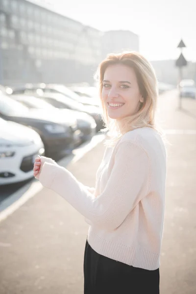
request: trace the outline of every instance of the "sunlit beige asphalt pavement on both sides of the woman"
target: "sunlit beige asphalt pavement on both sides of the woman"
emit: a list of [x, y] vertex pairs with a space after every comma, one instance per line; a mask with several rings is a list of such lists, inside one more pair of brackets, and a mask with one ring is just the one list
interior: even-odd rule
[[[168, 140], [160, 293], [196, 294], [196, 100], [176, 91], [159, 98]], [[66, 167], [95, 185], [104, 146]], [[0, 294], [82, 294], [88, 224], [69, 203], [42, 189], [0, 222]]]

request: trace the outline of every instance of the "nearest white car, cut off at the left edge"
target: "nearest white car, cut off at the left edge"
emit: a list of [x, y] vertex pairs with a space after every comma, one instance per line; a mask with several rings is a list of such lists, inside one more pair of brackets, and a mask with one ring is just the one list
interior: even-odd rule
[[44, 153], [44, 144], [38, 133], [0, 118], [0, 185], [33, 177], [35, 157]]

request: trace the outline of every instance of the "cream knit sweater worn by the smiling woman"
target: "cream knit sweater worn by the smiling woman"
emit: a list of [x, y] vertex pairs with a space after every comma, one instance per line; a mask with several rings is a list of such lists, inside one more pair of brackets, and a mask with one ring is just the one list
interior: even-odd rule
[[88, 242], [99, 254], [146, 270], [160, 266], [166, 149], [148, 127], [107, 147], [96, 188], [78, 182], [51, 159], [41, 157], [41, 184], [64, 197], [90, 224]]

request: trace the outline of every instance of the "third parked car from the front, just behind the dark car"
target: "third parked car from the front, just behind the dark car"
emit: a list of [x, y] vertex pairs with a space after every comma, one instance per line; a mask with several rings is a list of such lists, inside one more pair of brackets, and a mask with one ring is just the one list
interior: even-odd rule
[[60, 115], [64, 115], [68, 120], [77, 121], [77, 128], [80, 130], [81, 142], [91, 140], [96, 134], [97, 124], [95, 120], [87, 113], [71, 110], [71, 109], [58, 109], [43, 99], [27, 96], [27, 95], [12, 95], [11, 98], [22, 103], [29, 109], [45, 109], [52, 112], [58, 112]]

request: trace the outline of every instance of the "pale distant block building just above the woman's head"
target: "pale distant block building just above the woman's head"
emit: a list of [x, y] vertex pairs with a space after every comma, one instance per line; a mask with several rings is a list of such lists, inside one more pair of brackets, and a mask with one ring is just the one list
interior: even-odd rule
[[109, 53], [120, 53], [126, 50], [139, 51], [139, 37], [128, 30], [111, 30], [102, 35], [102, 58]]

